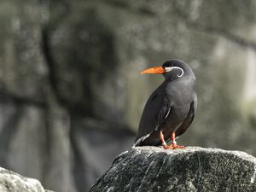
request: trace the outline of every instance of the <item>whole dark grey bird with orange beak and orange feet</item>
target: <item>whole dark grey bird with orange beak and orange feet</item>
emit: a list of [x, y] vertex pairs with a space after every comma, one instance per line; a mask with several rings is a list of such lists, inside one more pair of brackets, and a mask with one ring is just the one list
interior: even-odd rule
[[160, 73], [165, 80], [146, 102], [134, 146], [185, 148], [177, 145], [176, 138], [189, 128], [195, 117], [195, 74], [187, 63], [178, 59], [145, 69], [141, 74], [147, 73]]

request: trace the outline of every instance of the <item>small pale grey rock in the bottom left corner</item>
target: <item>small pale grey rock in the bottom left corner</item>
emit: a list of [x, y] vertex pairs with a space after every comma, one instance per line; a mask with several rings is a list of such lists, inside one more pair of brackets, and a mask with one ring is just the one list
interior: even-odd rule
[[34, 178], [23, 177], [18, 173], [0, 167], [1, 192], [53, 192], [44, 189], [42, 184]]

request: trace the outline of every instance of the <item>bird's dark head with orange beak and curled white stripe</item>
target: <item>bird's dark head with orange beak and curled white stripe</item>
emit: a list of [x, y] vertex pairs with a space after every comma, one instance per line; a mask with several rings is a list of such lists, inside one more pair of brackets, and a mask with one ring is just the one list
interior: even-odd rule
[[192, 69], [183, 61], [172, 59], [164, 62], [162, 66], [150, 67], [143, 70], [141, 74], [147, 73], [160, 73], [163, 74], [165, 79], [174, 80], [183, 77], [190, 77], [195, 79]]

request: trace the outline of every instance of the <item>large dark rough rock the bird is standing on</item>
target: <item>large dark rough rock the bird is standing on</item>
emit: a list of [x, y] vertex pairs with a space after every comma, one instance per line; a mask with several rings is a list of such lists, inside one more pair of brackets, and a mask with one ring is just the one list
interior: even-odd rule
[[131, 148], [113, 160], [96, 191], [256, 191], [256, 158], [218, 148]]

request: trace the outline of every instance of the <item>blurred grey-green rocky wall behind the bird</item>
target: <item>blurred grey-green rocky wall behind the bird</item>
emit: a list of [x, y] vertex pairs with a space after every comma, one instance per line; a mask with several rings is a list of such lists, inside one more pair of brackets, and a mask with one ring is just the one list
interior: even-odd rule
[[171, 58], [197, 78], [184, 145], [256, 155], [256, 1], [1, 0], [0, 166], [87, 191], [131, 148]]

